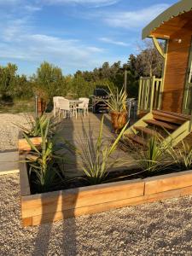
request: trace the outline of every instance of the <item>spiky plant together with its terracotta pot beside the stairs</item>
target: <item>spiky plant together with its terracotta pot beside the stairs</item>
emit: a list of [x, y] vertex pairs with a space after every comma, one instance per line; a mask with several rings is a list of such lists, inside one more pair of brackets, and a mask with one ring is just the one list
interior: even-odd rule
[[109, 99], [107, 102], [109, 113], [111, 115], [111, 122], [113, 126], [113, 131], [118, 133], [127, 123], [127, 108], [126, 100], [127, 94], [122, 88], [120, 91], [116, 90], [116, 93], [113, 93], [113, 90], [108, 86], [109, 90]]

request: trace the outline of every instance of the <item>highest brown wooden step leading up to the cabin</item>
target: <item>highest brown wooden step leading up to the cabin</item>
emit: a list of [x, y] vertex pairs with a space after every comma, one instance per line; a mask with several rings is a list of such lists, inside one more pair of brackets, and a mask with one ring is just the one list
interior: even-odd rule
[[172, 113], [165, 113], [160, 110], [154, 110], [152, 113], [154, 119], [163, 120], [169, 123], [183, 125], [183, 123], [186, 122], [186, 118], [174, 115]]

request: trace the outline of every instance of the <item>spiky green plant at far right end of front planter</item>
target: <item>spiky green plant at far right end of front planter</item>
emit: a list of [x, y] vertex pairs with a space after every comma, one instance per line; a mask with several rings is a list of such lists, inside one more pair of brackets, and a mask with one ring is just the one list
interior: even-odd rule
[[179, 169], [188, 171], [192, 168], [192, 146], [182, 141], [178, 148], [170, 148], [168, 151], [174, 163]]

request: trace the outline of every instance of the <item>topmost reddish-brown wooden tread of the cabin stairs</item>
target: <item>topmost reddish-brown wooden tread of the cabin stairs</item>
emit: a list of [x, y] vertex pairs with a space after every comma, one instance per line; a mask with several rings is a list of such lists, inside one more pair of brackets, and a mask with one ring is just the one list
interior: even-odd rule
[[182, 116], [179, 113], [172, 113], [172, 112], [166, 112], [166, 111], [161, 111], [161, 110], [153, 110], [154, 116], [157, 116], [156, 118], [163, 117], [164, 119], [172, 119], [170, 121], [174, 121], [176, 123], [182, 124], [183, 122], [189, 120], [189, 118], [186, 118]]

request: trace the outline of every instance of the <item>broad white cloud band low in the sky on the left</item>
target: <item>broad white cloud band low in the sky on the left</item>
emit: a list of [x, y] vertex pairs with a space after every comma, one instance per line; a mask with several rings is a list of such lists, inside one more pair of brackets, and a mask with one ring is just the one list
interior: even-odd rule
[[40, 63], [50, 61], [61, 67], [93, 68], [100, 63], [104, 49], [65, 39], [34, 33], [26, 20], [9, 20], [0, 26], [0, 59]]

